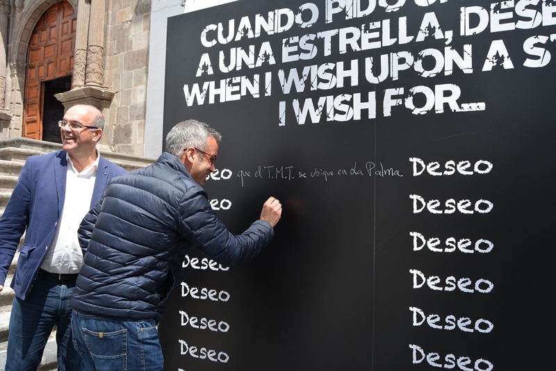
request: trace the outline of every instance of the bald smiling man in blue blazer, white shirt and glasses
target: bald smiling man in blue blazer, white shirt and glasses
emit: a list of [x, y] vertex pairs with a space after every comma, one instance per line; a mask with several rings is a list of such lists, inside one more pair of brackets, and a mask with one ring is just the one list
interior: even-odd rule
[[97, 108], [73, 106], [58, 125], [63, 150], [27, 159], [0, 220], [0, 291], [25, 233], [11, 283], [6, 371], [37, 370], [55, 324], [58, 370], [81, 368], [70, 326], [83, 258], [77, 228], [108, 181], [125, 172], [97, 151], [104, 129]]

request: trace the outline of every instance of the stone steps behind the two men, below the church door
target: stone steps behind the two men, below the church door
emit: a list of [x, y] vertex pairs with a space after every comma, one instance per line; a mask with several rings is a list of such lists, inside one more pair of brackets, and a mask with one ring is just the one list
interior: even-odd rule
[[[0, 140], [0, 218], [15, 188], [19, 172], [21, 172], [28, 156], [47, 154], [61, 148], [62, 146], [56, 143], [41, 142], [26, 138]], [[105, 151], [101, 151], [101, 156], [111, 160], [116, 165], [128, 171], [151, 165], [156, 160], [154, 158], [115, 154]], [[19, 246], [22, 245], [22, 242], [19, 243]], [[8, 277], [4, 283], [4, 288], [2, 292], [0, 292], [0, 371], [3, 371], [4, 365], [6, 364], [10, 314], [13, 298], [15, 297], [14, 291], [10, 288], [10, 283], [13, 279], [15, 268], [17, 267], [18, 257], [19, 252], [14, 256], [13, 262], [10, 265], [10, 270], [8, 271]], [[44, 349], [42, 362], [38, 371], [56, 370], [57, 365], [56, 330], [54, 330], [51, 333], [47, 347]]]

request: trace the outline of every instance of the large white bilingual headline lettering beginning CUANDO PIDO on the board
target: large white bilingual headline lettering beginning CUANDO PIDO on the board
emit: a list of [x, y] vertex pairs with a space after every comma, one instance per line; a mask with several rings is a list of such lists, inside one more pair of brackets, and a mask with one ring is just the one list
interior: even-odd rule
[[[417, 11], [395, 17], [412, 2]], [[458, 13], [452, 15], [459, 18], [455, 24], [446, 3], [322, 0], [215, 20], [197, 31], [202, 53], [192, 70], [198, 81], [184, 83], [186, 104], [261, 99], [276, 91], [296, 94], [290, 101], [279, 99], [279, 126], [294, 119], [297, 124], [315, 124], [390, 117], [400, 111], [398, 106], [414, 115], [477, 112], [486, 110], [486, 102], [461, 101], [464, 92], [457, 83], [407, 86], [403, 81], [500, 69], [512, 73], [518, 67], [550, 63], [550, 44], [556, 41], [552, 1], [462, 3], [452, 9]], [[377, 20], [383, 12], [384, 19]], [[538, 29], [537, 35], [522, 33], [532, 29]], [[517, 38], [521, 45], [516, 49], [509, 40]], [[476, 48], [478, 40], [487, 42], [488, 49]], [[420, 47], [423, 42], [427, 47]], [[346, 53], [356, 58], [347, 60]], [[297, 65], [282, 67], [292, 63]], [[215, 70], [236, 76], [206, 81]], [[280, 89], [272, 89], [275, 81]], [[377, 88], [395, 81], [400, 81], [397, 88]], [[353, 91], [334, 93], [345, 86]], [[316, 91], [327, 93], [313, 94]]]

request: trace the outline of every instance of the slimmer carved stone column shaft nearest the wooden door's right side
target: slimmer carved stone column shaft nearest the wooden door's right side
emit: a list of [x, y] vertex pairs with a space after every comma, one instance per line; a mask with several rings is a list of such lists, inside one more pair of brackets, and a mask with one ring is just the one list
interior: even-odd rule
[[77, 31], [75, 34], [73, 88], [85, 86], [85, 66], [87, 65], [87, 45], [89, 40], [89, 19], [91, 0], [79, 0]]

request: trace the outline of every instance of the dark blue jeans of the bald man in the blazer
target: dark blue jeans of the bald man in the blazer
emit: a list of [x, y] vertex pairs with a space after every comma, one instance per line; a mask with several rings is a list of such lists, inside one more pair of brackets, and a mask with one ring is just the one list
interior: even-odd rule
[[25, 300], [13, 299], [6, 371], [36, 371], [56, 324], [58, 370], [75, 371], [81, 358], [72, 344], [72, 306], [75, 281], [38, 277]]

